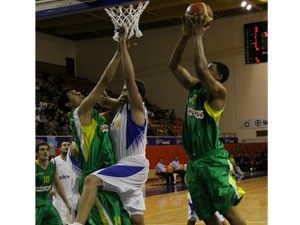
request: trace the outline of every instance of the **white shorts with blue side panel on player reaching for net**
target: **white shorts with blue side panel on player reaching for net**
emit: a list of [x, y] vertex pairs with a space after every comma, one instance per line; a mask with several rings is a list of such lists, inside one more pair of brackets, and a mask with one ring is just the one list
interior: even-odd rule
[[144, 155], [121, 159], [117, 164], [98, 170], [93, 175], [103, 182], [103, 190], [119, 194], [124, 209], [130, 215], [146, 210], [143, 185], [148, 179], [149, 161]]

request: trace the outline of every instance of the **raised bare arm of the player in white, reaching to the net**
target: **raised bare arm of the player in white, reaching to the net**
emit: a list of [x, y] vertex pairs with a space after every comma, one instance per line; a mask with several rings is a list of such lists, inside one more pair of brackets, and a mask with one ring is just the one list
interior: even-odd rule
[[142, 126], [145, 123], [144, 104], [135, 82], [135, 72], [128, 52], [127, 35], [128, 31], [126, 30], [120, 39], [122, 73], [125, 79], [128, 100], [131, 107], [132, 120], [137, 125]]

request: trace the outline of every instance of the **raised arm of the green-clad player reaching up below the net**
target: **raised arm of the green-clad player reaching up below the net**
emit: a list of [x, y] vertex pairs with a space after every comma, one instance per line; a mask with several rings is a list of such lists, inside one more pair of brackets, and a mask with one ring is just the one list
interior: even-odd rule
[[92, 110], [95, 104], [99, 101], [100, 95], [105, 91], [110, 84], [113, 76], [116, 73], [118, 64], [120, 62], [120, 51], [117, 50], [110, 63], [101, 75], [99, 82], [96, 84], [90, 94], [83, 100], [78, 109], [80, 122], [82, 125], [91, 124]]

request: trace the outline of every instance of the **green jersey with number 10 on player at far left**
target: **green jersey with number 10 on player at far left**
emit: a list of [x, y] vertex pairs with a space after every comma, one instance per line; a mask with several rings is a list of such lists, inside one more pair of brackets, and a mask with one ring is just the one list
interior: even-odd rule
[[56, 165], [49, 162], [43, 169], [38, 161], [35, 162], [35, 205], [36, 207], [51, 204], [49, 193], [55, 177]]

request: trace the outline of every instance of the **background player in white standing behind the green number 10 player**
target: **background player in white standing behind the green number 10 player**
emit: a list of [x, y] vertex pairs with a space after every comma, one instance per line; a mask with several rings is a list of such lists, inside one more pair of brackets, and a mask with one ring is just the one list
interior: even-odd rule
[[78, 187], [76, 185], [76, 176], [67, 162], [67, 154], [70, 142], [64, 141], [61, 143], [61, 154], [52, 161], [56, 164], [58, 177], [64, 187], [66, 197], [72, 206], [71, 213], [64, 204], [62, 198], [55, 193], [53, 195], [53, 205], [57, 209], [61, 220], [64, 224], [70, 224], [75, 221], [75, 211], [79, 200]]

